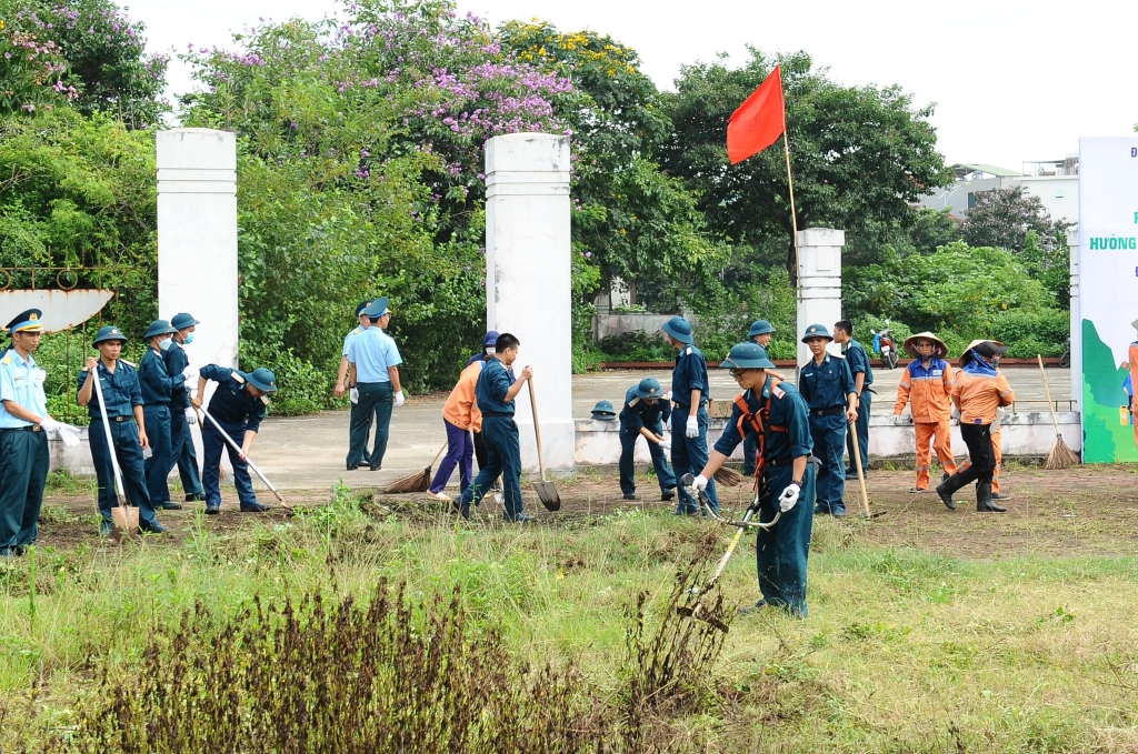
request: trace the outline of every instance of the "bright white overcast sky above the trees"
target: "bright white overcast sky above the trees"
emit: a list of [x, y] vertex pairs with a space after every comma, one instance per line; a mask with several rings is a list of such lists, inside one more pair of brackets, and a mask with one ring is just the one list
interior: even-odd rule
[[[335, 0], [126, 0], [146, 24], [149, 48], [168, 52], [233, 47], [231, 34], [259, 17], [320, 18]], [[1020, 169], [1062, 159], [1080, 136], [1133, 133], [1138, 123], [1138, 2], [1082, 0], [460, 0], [493, 25], [534, 17], [561, 31], [609, 34], [641, 56], [660, 89], [684, 64], [736, 64], [747, 45], [805, 50], [848, 85], [899, 84], [932, 118], [949, 164]], [[188, 68], [171, 64], [167, 93], [192, 89]]]

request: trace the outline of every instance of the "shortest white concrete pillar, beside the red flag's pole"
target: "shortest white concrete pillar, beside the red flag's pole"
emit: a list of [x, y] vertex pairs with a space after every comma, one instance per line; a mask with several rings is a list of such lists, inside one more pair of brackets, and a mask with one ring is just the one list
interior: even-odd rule
[[[824, 324], [833, 334], [834, 323], [842, 318], [842, 247], [846, 231], [808, 227], [798, 233], [798, 279], [802, 297], [798, 303], [799, 366], [813, 356], [802, 342], [802, 333], [811, 324]], [[865, 340], [863, 335], [863, 340]], [[835, 354], [840, 349], [831, 343]]]

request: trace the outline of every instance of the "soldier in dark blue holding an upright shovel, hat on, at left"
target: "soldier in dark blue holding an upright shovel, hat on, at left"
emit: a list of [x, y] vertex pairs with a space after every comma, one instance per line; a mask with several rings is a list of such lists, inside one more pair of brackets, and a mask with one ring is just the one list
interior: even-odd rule
[[[150, 492], [146, 487], [142, 451], [150, 446], [150, 440], [146, 433], [146, 417], [142, 414], [142, 389], [134, 365], [119, 358], [125, 343], [126, 335], [118, 328], [114, 325], [100, 328], [92, 343], [99, 349], [99, 357], [86, 359], [83, 371], [79, 373], [76, 400], [80, 406], [86, 406], [88, 415], [91, 417], [88, 439], [91, 442], [94, 475], [99, 480], [99, 513], [102, 514], [100, 532], [110, 533], [110, 509], [118, 505], [115, 495], [115, 467], [110, 456], [114, 453], [122, 472], [123, 492], [139, 509], [139, 529], [162, 533], [166, 528], [155, 517]], [[107, 404], [105, 408], [99, 405], [94, 381], [88, 379], [96, 372], [102, 388], [102, 399]], [[104, 411], [110, 423], [113, 448], [107, 447], [107, 433], [102, 426]]]

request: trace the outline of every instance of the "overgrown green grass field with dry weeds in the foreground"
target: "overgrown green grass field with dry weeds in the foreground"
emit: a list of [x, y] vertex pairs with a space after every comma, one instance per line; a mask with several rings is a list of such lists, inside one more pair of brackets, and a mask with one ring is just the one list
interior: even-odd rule
[[[390, 751], [1138, 751], [1129, 540], [1067, 554], [1070, 532], [1024, 517], [1039, 547], [986, 555], [984, 527], [1017, 524], [964, 516], [965, 555], [935, 528], [883, 541], [915, 525], [900, 516], [818, 520], [809, 618], [735, 618], [718, 638], [674, 606], [729, 531], [661, 508], [514, 528], [339, 490], [220, 532], [198, 514], [175, 541], [41, 546], [0, 563], [0, 746], [178, 751], [155, 718], [193, 720], [214, 751], [364, 751], [345, 741], [366, 720], [420, 731]], [[728, 614], [758, 597], [753, 538], [721, 594]], [[335, 718], [356, 695], [370, 712]], [[447, 721], [401, 716], [431, 705]]]

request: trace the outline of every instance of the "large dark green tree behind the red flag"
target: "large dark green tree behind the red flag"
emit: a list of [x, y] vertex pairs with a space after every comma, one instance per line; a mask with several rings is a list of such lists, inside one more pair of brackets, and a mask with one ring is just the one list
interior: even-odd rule
[[[708, 223], [736, 242], [785, 239], [777, 259], [795, 275], [786, 163], [777, 146], [729, 165], [726, 124], [780, 65], [794, 175], [798, 227], [859, 232], [904, 219], [909, 205], [951, 179], [929, 118], [899, 86], [843, 86], [806, 52], [770, 56], [751, 49], [740, 68], [721, 61], [681, 68], [663, 98], [674, 131], [660, 163], [700, 197]], [[758, 248], [758, 247], [757, 247]]]

